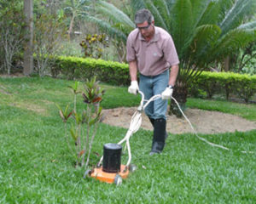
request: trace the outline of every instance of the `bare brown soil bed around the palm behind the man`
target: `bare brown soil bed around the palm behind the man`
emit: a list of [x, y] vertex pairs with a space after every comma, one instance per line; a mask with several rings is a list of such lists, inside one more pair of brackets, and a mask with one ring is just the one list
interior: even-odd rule
[[[131, 116], [137, 110], [136, 107], [132, 108], [116, 108], [103, 110], [103, 121], [112, 126], [129, 128]], [[225, 114], [218, 111], [202, 111], [198, 109], [187, 109], [184, 114], [189, 118], [195, 131], [197, 133], [233, 133], [236, 131], [246, 132], [256, 129], [256, 122], [247, 121], [240, 116]], [[148, 117], [143, 113], [142, 126], [143, 129], [153, 130]], [[167, 116], [166, 129], [169, 133], [193, 133], [192, 128], [189, 126], [184, 118], [177, 118], [176, 116]]]

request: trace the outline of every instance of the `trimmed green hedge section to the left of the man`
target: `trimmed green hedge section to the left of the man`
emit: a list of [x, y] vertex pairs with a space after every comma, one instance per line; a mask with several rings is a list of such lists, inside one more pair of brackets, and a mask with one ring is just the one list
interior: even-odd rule
[[53, 77], [61, 74], [67, 79], [84, 80], [96, 76], [97, 80], [114, 85], [131, 82], [127, 64], [102, 59], [59, 57], [55, 59], [51, 72]]

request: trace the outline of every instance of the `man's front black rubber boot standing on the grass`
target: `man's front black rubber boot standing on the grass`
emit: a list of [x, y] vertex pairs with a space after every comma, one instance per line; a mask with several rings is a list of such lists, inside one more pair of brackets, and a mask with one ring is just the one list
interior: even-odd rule
[[164, 118], [154, 120], [154, 137], [149, 155], [160, 154], [166, 144], [166, 120]]

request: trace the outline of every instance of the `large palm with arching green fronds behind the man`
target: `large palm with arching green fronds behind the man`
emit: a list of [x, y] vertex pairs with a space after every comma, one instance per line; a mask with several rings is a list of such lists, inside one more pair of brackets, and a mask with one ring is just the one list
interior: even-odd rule
[[[255, 0], [131, 0], [133, 14], [148, 8], [156, 26], [168, 31], [175, 42], [180, 70], [174, 98], [184, 107], [189, 83], [214, 61], [221, 61], [256, 38], [256, 20], [242, 24], [256, 8]], [[112, 4], [98, 1], [96, 11], [108, 16], [90, 17], [108, 33], [126, 39], [135, 27], [128, 15]], [[108, 20], [109, 23], [108, 23]], [[175, 105], [171, 105], [174, 107]]]

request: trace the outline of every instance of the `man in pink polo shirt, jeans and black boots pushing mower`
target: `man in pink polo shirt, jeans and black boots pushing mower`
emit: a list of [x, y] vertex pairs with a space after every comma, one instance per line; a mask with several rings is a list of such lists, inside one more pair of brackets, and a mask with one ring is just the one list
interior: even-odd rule
[[[145, 99], [161, 94], [162, 99], [154, 100], [145, 109], [154, 127], [150, 155], [160, 153], [165, 146], [166, 111], [178, 73], [179, 60], [172, 37], [164, 29], [154, 26], [154, 17], [148, 9], [141, 9], [135, 15], [137, 28], [127, 38], [131, 86], [128, 92], [137, 94], [140, 90]], [[169, 69], [171, 67], [171, 73]], [[138, 87], [137, 71], [140, 74]]]

